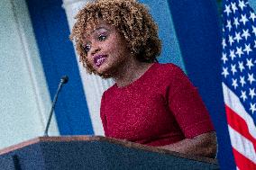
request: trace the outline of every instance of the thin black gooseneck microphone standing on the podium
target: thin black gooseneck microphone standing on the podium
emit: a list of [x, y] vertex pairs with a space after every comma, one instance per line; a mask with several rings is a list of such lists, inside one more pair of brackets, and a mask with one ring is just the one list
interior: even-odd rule
[[49, 130], [49, 126], [50, 126], [50, 120], [51, 120], [51, 117], [52, 117], [52, 113], [53, 113], [55, 104], [56, 104], [57, 99], [58, 99], [59, 92], [60, 92], [60, 90], [62, 88], [62, 85], [67, 84], [68, 81], [69, 81], [69, 76], [62, 76], [61, 79], [60, 79], [57, 92], [56, 92], [56, 94], [54, 96], [54, 99], [53, 99], [53, 102], [52, 102], [52, 105], [51, 105], [50, 115], [49, 115], [49, 118], [48, 118], [48, 121], [47, 121], [47, 125], [46, 125], [46, 128], [44, 130], [44, 137], [48, 137], [48, 130]]

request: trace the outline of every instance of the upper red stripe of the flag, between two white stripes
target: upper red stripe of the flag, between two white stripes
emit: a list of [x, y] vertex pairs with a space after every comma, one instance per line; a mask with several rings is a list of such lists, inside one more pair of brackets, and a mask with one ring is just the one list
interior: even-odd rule
[[228, 124], [233, 128], [233, 130], [239, 131], [242, 136], [244, 136], [246, 139], [250, 139], [252, 143], [255, 143], [256, 140], [251, 136], [246, 122], [236, 112], [233, 112], [233, 110], [227, 105], [225, 106], [225, 109]]

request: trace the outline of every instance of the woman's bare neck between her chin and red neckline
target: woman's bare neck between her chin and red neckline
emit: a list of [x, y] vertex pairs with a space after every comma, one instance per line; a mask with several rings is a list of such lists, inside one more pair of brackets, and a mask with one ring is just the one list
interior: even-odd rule
[[129, 62], [125, 62], [123, 67], [118, 69], [118, 72], [113, 77], [114, 82], [118, 87], [130, 85], [135, 80], [139, 79], [152, 64], [153, 63], [144, 63], [137, 59], [131, 59]]

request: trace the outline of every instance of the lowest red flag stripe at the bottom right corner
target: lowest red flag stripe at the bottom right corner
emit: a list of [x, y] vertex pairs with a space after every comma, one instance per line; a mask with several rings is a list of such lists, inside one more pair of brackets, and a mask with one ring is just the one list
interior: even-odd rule
[[233, 148], [233, 155], [235, 158], [235, 162], [237, 164], [237, 169], [239, 170], [248, 170], [248, 169], [256, 169], [256, 165], [251, 162], [246, 157], [243, 157], [237, 150]]

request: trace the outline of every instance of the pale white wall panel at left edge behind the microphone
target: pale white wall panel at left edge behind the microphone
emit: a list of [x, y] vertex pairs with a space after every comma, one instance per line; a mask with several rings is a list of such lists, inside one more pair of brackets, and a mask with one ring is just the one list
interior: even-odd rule
[[42, 136], [50, 103], [25, 0], [1, 0], [0, 148]]

